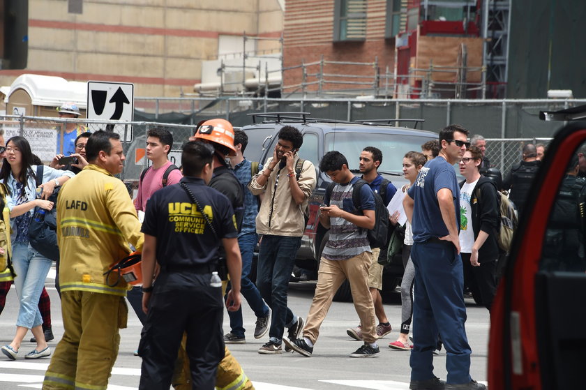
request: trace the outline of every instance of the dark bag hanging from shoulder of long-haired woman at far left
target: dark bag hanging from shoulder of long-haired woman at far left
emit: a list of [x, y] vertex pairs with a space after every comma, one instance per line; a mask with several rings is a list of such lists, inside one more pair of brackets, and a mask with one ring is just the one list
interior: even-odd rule
[[[36, 186], [43, 183], [43, 167], [37, 165]], [[59, 246], [57, 246], [57, 195], [61, 186], [55, 188], [49, 197], [53, 202], [51, 211], [39, 213], [40, 207], [35, 207], [31, 225], [29, 225], [29, 240], [34, 250], [54, 262], [59, 260]]]

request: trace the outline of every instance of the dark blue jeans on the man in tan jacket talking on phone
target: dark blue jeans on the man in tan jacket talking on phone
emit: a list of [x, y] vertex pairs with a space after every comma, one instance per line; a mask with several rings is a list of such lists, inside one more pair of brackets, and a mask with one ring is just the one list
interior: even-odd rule
[[273, 343], [279, 344], [285, 327], [292, 326], [297, 320], [287, 307], [287, 292], [299, 246], [301, 237], [265, 235], [260, 243], [257, 287], [273, 310], [269, 329], [269, 339]]

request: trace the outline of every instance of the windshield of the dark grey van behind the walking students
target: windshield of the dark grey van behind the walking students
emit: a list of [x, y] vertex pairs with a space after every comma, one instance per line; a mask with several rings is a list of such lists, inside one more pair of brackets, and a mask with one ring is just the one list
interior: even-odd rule
[[346, 156], [351, 170], [359, 169], [359, 156], [365, 147], [382, 151], [379, 172], [402, 172], [403, 156], [408, 151], [421, 152], [421, 145], [437, 137], [413, 137], [384, 133], [328, 133], [324, 137], [325, 150], [337, 150]]

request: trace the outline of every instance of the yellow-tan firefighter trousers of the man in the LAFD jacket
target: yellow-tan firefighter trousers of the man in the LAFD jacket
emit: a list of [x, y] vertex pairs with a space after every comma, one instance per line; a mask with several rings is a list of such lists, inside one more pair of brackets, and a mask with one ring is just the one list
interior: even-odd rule
[[61, 293], [65, 333], [57, 344], [43, 389], [106, 390], [126, 328], [124, 297], [86, 291]]

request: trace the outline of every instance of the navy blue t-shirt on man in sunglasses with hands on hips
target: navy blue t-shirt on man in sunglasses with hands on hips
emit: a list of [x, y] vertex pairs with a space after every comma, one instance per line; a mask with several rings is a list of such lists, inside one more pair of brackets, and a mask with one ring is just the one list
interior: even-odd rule
[[414, 185], [407, 191], [415, 202], [413, 241], [423, 242], [432, 237], [444, 237], [449, 234], [442, 218], [440, 204], [437, 202], [437, 191], [442, 188], [451, 190], [454, 218], [458, 231], [460, 230], [460, 187], [456, 180], [456, 172], [445, 158], [437, 157], [421, 168]]

